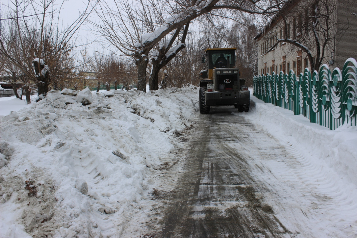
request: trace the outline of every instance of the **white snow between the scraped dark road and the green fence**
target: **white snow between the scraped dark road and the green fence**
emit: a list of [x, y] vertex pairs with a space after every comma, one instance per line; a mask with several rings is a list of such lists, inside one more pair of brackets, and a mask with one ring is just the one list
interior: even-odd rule
[[357, 237], [357, 127], [331, 131], [292, 111], [253, 101], [255, 108], [243, 116], [291, 155], [285, 161], [258, 162], [274, 176], [262, 175], [275, 191], [265, 200], [280, 197], [280, 204], [272, 205], [277, 218], [290, 231], [300, 223], [298, 237]]

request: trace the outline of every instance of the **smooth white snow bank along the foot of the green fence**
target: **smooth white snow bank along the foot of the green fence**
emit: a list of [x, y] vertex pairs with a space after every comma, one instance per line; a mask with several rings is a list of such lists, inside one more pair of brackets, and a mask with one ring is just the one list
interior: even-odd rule
[[275, 107], [253, 97], [255, 108], [249, 120], [264, 126], [272, 135], [289, 144], [312, 163], [326, 164], [346, 182], [357, 186], [357, 126], [343, 125], [332, 131], [292, 111]]

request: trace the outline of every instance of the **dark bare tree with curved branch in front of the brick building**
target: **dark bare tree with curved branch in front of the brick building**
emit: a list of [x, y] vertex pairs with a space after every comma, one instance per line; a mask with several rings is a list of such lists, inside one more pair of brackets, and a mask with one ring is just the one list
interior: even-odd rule
[[281, 44], [290, 44], [291, 51], [296, 47], [306, 53], [310, 69], [319, 69], [323, 60], [327, 61], [326, 52], [333, 51], [334, 30], [336, 24], [333, 23], [336, 2], [330, 0], [302, 0], [294, 7], [287, 4], [272, 20], [280, 19], [273, 30], [270, 25], [266, 26], [264, 36], [268, 43], [265, 46], [266, 52], [270, 52]]

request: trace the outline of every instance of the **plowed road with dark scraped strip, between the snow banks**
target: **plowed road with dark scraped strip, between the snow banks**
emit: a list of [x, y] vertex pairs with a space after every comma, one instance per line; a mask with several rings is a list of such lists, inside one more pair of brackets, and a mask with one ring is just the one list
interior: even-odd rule
[[[316, 216], [338, 203], [305, 183], [308, 174], [322, 174], [235, 111], [216, 107], [201, 115], [175, 188], [157, 192], [166, 195], [156, 200], [151, 237], [343, 237], [333, 231], [333, 217]], [[175, 172], [167, 173], [171, 181]]]

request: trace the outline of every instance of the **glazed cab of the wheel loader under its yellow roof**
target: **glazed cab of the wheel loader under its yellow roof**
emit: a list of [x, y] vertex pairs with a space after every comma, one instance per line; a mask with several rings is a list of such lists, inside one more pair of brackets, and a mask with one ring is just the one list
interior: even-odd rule
[[213, 69], [228, 69], [236, 67], [236, 48], [207, 49], [208, 79], [213, 79]]

